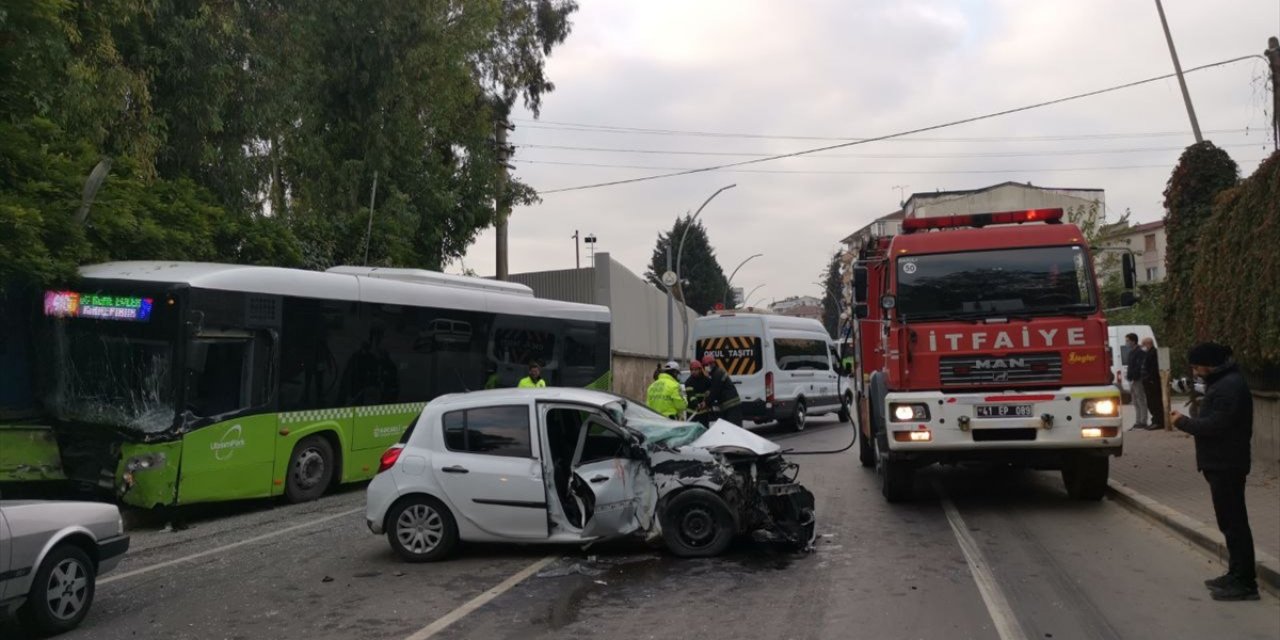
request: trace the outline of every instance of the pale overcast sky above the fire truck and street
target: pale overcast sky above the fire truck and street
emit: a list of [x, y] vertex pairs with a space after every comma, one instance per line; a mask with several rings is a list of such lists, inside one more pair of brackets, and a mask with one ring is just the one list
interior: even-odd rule
[[[573, 33], [548, 61], [556, 91], [538, 122], [516, 115], [511, 137], [516, 173], [539, 191], [835, 143], [788, 136], [882, 136], [1172, 70], [1149, 0], [580, 4]], [[1184, 68], [1261, 54], [1280, 32], [1280, 0], [1165, 0], [1165, 12]], [[1188, 76], [1201, 128], [1244, 174], [1270, 148], [1266, 73], [1260, 58]], [[701, 215], [726, 275], [764, 253], [733, 280], [763, 285], [753, 301], [819, 294], [840, 239], [897, 209], [899, 187], [1102, 188], [1112, 219], [1128, 209], [1149, 221], [1164, 215], [1165, 182], [1192, 142], [1169, 79], [749, 172], [548, 193], [512, 215], [511, 271], [572, 268], [571, 236], [581, 230], [643, 274], [659, 232], [736, 183]], [[584, 244], [584, 264], [588, 255]], [[494, 273], [492, 229], [465, 264]]]

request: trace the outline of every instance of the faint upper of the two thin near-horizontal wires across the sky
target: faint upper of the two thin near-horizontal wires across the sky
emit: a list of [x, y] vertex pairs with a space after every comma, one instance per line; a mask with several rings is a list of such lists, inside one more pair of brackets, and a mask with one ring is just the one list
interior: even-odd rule
[[[854, 142], [865, 141], [870, 138], [859, 136], [794, 136], [794, 134], [776, 134], [776, 133], [735, 133], [735, 132], [712, 132], [712, 131], [692, 131], [692, 129], [649, 129], [643, 127], [621, 127], [611, 124], [580, 124], [580, 123], [564, 123], [553, 120], [532, 120], [532, 119], [520, 119], [513, 118], [513, 120], [530, 123], [521, 124], [518, 131], [524, 129], [549, 129], [549, 131], [573, 131], [584, 133], [617, 133], [617, 134], [643, 134], [643, 136], [684, 136], [684, 137], [704, 137], [704, 138], [746, 138], [746, 140], [810, 140], [810, 141], [829, 141], [829, 142]], [[1247, 133], [1249, 129], [1212, 129], [1204, 133]], [[1137, 133], [1079, 133], [1079, 134], [1061, 134], [1061, 136], [986, 136], [986, 137], [968, 137], [968, 138], [897, 138], [895, 142], [1061, 142], [1069, 140], [1120, 140], [1120, 138], [1160, 138], [1160, 137], [1176, 137], [1176, 136], [1189, 136], [1190, 132], [1187, 131], [1152, 131], [1152, 132], [1137, 132]]]

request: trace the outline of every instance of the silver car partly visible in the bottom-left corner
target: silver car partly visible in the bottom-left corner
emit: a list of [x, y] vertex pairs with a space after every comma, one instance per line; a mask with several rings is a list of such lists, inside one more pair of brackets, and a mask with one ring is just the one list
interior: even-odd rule
[[38, 634], [70, 631], [128, 549], [114, 504], [0, 500], [0, 612], [17, 609]]

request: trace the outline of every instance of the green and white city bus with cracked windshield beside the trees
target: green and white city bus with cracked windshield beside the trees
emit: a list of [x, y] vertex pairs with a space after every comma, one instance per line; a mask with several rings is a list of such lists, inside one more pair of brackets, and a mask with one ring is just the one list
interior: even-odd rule
[[110, 262], [42, 292], [38, 420], [0, 426], [0, 481], [155, 508], [320, 497], [378, 472], [433, 398], [609, 385], [609, 311], [433, 271]]

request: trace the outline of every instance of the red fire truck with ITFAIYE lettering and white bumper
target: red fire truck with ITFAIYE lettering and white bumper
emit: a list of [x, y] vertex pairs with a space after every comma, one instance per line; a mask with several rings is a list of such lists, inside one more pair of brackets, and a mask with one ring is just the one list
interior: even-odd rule
[[1070, 497], [1102, 497], [1120, 392], [1089, 247], [1061, 209], [908, 218], [856, 256], [854, 301], [860, 460], [887, 500], [922, 466], [969, 461], [1061, 470]]

